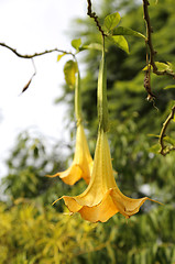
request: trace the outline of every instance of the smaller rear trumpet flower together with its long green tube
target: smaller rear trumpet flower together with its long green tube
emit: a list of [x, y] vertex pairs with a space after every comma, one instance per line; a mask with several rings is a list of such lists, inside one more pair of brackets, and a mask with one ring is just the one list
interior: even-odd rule
[[80, 77], [79, 70], [76, 76], [75, 86], [75, 114], [77, 119], [76, 147], [72, 166], [65, 172], [47, 175], [47, 177], [58, 176], [65, 184], [74, 185], [80, 178], [84, 178], [87, 184], [90, 180], [92, 168], [92, 158], [89, 152], [87, 139], [81, 123], [81, 102], [80, 102]]

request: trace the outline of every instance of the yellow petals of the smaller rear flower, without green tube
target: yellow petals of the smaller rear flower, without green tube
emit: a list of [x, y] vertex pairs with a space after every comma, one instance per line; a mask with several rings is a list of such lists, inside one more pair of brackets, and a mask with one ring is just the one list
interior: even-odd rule
[[64, 172], [47, 176], [58, 176], [65, 184], [68, 185], [74, 185], [80, 178], [84, 178], [86, 183], [89, 184], [92, 163], [94, 162], [87, 144], [84, 127], [81, 123], [78, 123], [76, 133], [76, 148], [72, 166]]

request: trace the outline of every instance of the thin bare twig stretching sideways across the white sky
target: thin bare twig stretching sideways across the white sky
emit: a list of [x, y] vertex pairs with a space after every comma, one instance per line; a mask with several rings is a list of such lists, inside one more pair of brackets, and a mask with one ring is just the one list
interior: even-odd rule
[[21, 58], [34, 58], [34, 57], [37, 57], [37, 56], [42, 56], [42, 55], [45, 55], [45, 54], [48, 54], [48, 53], [53, 53], [53, 52], [58, 52], [58, 53], [65, 53], [65, 54], [68, 54], [68, 55], [72, 55], [73, 57], [75, 57], [75, 54], [70, 53], [70, 52], [66, 52], [66, 51], [63, 51], [63, 50], [59, 50], [59, 48], [53, 48], [53, 50], [48, 50], [48, 51], [44, 51], [42, 53], [34, 53], [32, 55], [23, 55], [23, 54], [20, 54], [19, 52], [17, 52], [15, 48], [13, 47], [10, 47], [9, 45], [7, 45], [6, 43], [0, 43], [0, 46], [3, 46], [3, 47], [7, 47], [9, 48], [11, 52], [13, 52], [18, 57], [21, 57]]

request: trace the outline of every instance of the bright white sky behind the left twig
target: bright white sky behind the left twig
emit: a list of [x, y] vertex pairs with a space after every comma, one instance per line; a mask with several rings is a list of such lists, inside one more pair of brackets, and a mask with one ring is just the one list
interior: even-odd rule
[[[21, 54], [70, 51], [65, 32], [70, 31], [73, 18], [86, 18], [86, 0], [0, 0], [0, 42]], [[62, 95], [66, 59], [56, 58], [57, 53], [34, 58], [37, 74], [19, 96], [33, 74], [32, 62], [0, 46], [0, 177], [6, 173], [3, 160], [22, 130], [65, 140], [66, 106], [54, 106], [54, 99]]]

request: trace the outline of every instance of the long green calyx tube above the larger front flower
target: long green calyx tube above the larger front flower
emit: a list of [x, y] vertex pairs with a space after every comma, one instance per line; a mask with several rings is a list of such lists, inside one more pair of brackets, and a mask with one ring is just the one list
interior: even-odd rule
[[105, 52], [105, 36], [102, 36], [102, 57], [99, 67], [98, 76], [98, 119], [99, 129], [105, 132], [108, 131], [108, 101], [107, 101], [107, 66], [106, 66], [106, 52]]

